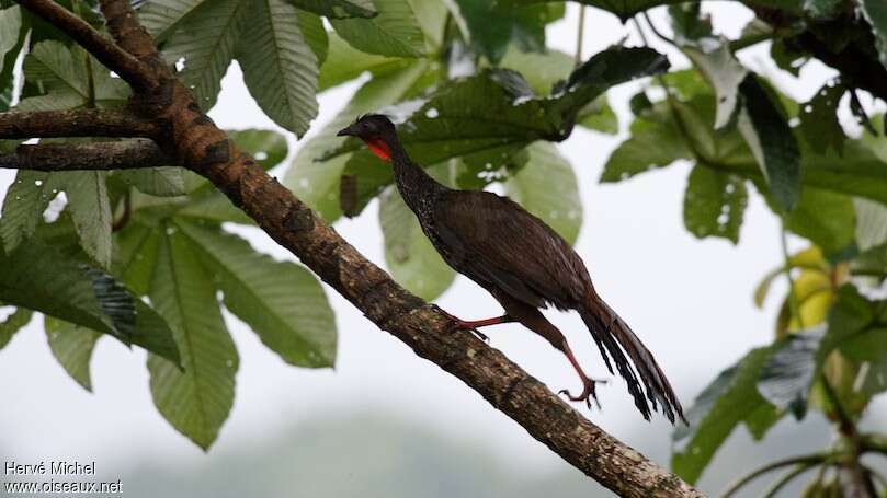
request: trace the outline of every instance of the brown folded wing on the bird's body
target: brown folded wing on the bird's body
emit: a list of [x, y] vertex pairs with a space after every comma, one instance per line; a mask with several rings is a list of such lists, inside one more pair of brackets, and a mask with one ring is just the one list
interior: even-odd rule
[[537, 308], [575, 308], [591, 281], [570, 245], [516, 202], [489, 192], [451, 190], [436, 232], [459, 273]]

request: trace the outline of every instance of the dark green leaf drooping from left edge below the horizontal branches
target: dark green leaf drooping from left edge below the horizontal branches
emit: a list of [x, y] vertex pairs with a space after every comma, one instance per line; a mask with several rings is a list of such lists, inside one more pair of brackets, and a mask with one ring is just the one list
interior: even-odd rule
[[0, 300], [112, 335], [179, 361], [172, 333], [149, 306], [111, 276], [31, 240], [0, 252]]

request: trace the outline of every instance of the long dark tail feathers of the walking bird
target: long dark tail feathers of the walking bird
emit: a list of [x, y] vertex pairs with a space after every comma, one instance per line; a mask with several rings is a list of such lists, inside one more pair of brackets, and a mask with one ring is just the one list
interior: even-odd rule
[[[579, 309], [579, 315], [582, 316], [582, 321], [585, 322], [585, 326], [589, 327], [591, 336], [598, 344], [610, 373], [613, 373], [610, 357], [613, 358], [616, 370], [628, 383], [628, 392], [635, 398], [635, 406], [644, 418], [649, 420], [650, 407], [652, 406], [652, 410], [656, 410], [657, 405], [661, 405], [662, 412], [672, 424], [674, 424], [675, 413], [686, 424], [681, 403], [649, 349], [632, 332], [628, 324], [600, 297], [592, 293], [587, 302], [584, 308]], [[632, 359], [630, 362], [628, 358]], [[640, 381], [638, 381], [638, 377]]]

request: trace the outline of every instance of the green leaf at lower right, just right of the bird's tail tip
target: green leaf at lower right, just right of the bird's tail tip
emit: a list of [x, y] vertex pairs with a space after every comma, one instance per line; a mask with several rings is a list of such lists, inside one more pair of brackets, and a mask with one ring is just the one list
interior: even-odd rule
[[736, 426], [743, 421], [771, 426], [778, 418], [776, 408], [755, 386], [770, 354], [769, 347], [752, 349], [737, 364], [720, 372], [687, 410], [690, 426], [675, 428], [671, 467], [689, 483], [700, 478]]

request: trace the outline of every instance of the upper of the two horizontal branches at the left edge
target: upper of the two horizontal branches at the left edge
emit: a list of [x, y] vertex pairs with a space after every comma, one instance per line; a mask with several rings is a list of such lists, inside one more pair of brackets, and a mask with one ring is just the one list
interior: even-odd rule
[[78, 109], [0, 113], [0, 139], [153, 137], [160, 127], [125, 111]]

